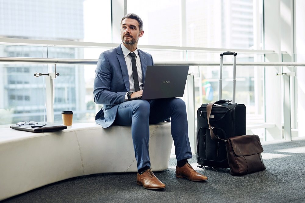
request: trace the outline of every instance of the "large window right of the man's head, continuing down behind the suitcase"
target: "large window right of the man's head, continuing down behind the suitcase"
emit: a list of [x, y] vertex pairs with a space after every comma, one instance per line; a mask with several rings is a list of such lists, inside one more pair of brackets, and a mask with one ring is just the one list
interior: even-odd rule
[[[144, 21], [145, 34], [139, 44], [228, 50], [263, 49], [262, 8], [261, 0], [127, 1], [127, 12], [138, 14]], [[162, 61], [220, 61], [219, 51], [147, 52]], [[232, 57], [225, 56], [224, 61], [232, 61]], [[264, 61], [264, 55], [238, 52], [237, 62], [254, 61]], [[232, 99], [232, 78], [232, 67], [224, 66], [222, 98]], [[247, 123], [264, 123], [264, 69], [237, 67], [236, 80], [236, 102], [247, 106]], [[219, 67], [199, 67], [196, 109], [202, 103], [216, 101], [218, 92]]]

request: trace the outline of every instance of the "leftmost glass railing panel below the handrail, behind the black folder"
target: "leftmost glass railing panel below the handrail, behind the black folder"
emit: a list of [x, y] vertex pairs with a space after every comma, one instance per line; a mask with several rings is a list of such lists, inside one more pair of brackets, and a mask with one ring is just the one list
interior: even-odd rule
[[45, 121], [45, 73], [39, 64], [0, 64], [0, 127], [19, 121]]

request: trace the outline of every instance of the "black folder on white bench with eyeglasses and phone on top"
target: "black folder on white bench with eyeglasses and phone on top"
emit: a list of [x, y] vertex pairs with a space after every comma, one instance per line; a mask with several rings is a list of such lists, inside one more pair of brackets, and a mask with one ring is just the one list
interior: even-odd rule
[[47, 123], [47, 122], [38, 122], [38, 125], [41, 124], [46, 124], [45, 126], [42, 127], [32, 127], [34, 125], [12, 125], [10, 128], [15, 129], [15, 130], [23, 130], [23, 131], [28, 131], [32, 133], [43, 133], [43, 132], [51, 132], [51, 131], [56, 131], [56, 130], [64, 130], [67, 128], [67, 126], [55, 124], [55, 123]]

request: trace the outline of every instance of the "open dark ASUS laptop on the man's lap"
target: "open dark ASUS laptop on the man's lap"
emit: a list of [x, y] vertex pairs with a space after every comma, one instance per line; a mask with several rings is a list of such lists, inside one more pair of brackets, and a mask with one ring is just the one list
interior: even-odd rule
[[189, 66], [147, 66], [142, 99], [182, 97], [185, 89]]

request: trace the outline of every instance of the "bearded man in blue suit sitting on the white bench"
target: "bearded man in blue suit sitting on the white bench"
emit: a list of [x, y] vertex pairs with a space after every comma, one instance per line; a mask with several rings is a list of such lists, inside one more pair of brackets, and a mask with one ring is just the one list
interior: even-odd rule
[[112, 124], [131, 126], [138, 168], [137, 184], [146, 189], [162, 189], [165, 184], [150, 168], [149, 123], [160, 123], [171, 118], [171, 134], [177, 158], [176, 177], [192, 181], [207, 180], [187, 162], [188, 158], [192, 158], [192, 152], [183, 100], [125, 101], [127, 98], [142, 96], [146, 68], [153, 65], [152, 56], [138, 49], [138, 40], [143, 34], [140, 17], [133, 13], [127, 14], [121, 20], [123, 43], [100, 55], [95, 70], [93, 95], [95, 103], [103, 104], [103, 108], [95, 117], [96, 123], [104, 128]]

